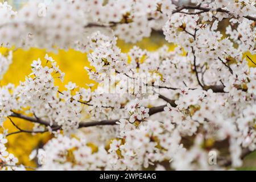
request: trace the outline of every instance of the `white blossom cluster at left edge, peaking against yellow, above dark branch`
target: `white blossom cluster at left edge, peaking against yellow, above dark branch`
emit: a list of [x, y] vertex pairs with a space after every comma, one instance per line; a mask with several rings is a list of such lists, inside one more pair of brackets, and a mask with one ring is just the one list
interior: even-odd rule
[[32, 73], [19, 86], [9, 84], [1, 88], [1, 124], [14, 110], [29, 107], [26, 113], [47, 118], [52, 126], [57, 124], [64, 128], [67, 126], [68, 129], [77, 127], [81, 104], [77, 100], [71, 100], [71, 92], [75, 86], [66, 85], [68, 90], [60, 94], [54, 81], [63, 81], [65, 73], [60, 71], [52, 57], [46, 55], [45, 59], [45, 66], [40, 59], [33, 61]]

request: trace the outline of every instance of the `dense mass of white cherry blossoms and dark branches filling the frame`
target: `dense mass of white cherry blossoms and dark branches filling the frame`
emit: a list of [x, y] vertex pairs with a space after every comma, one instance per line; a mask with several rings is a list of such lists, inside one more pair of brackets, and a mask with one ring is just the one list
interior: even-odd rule
[[[38, 169], [239, 167], [256, 150], [256, 68], [247, 61], [255, 66], [255, 15], [253, 0], [32, 1], [19, 11], [0, 3], [2, 46], [87, 52], [85, 71], [98, 82], [95, 90], [73, 82], [60, 90], [65, 73], [55, 60], [34, 60], [25, 81], [0, 86], [0, 125], [8, 119], [16, 133], [52, 133], [31, 154]], [[175, 50], [117, 46], [152, 31]], [[11, 52], [0, 55], [0, 79], [11, 60]], [[0, 134], [0, 169], [26, 169], [6, 151], [16, 133]]]

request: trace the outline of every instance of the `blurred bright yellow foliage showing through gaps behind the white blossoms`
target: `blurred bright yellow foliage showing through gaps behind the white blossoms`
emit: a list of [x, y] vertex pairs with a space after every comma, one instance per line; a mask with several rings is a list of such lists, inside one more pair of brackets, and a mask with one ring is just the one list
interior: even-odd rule
[[[48, 0], [47, 0], [48, 1]], [[1, 1], [0, 1], [1, 2]], [[14, 9], [19, 9], [27, 0], [10, 0], [8, 1], [14, 6]], [[222, 29], [222, 28], [221, 28]], [[225, 32], [225, 31], [224, 31]], [[222, 34], [224, 33], [222, 29]], [[156, 49], [167, 44], [170, 49], [174, 49], [175, 46], [168, 44], [162, 35], [158, 32], [154, 32], [150, 38], [144, 38], [141, 42], [137, 44], [127, 44], [122, 40], [118, 40], [118, 47], [122, 49], [122, 52], [128, 52], [133, 46], [139, 46], [142, 49], [147, 49], [148, 51], [155, 51]], [[7, 48], [0, 48], [1, 53], [7, 53], [10, 51]], [[85, 87], [86, 84], [94, 83], [94, 81], [89, 79], [84, 67], [89, 67], [89, 62], [87, 60], [86, 53], [81, 53], [73, 49], [68, 51], [59, 50], [57, 52], [47, 52], [46, 49], [31, 48], [24, 50], [22, 48], [13, 48], [13, 63], [10, 65], [9, 71], [5, 74], [2, 80], [0, 80], [0, 85], [6, 85], [9, 83], [19, 85], [20, 81], [24, 81], [25, 76], [31, 73], [31, 66], [33, 60], [40, 58], [44, 60], [44, 56], [48, 53], [53, 59], [57, 61], [61, 71], [65, 73], [64, 83], [56, 80], [55, 84], [59, 85], [60, 90], [64, 89], [64, 85], [69, 81], [76, 82], [77, 85]], [[245, 55], [249, 55], [251, 59], [256, 60], [256, 55], [251, 55], [246, 52]], [[253, 65], [249, 61], [249, 65]], [[97, 85], [94, 86], [96, 88]], [[32, 123], [24, 121], [23, 119], [15, 118], [15, 123], [23, 129], [32, 129]], [[4, 124], [5, 128], [9, 130], [9, 133], [16, 131], [15, 127], [11, 125], [11, 122], [7, 120]], [[2, 132], [0, 130], [0, 132]], [[18, 159], [19, 163], [25, 166], [36, 167], [36, 162], [29, 160], [29, 155], [31, 151], [35, 148], [40, 148], [51, 135], [44, 134], [26, 134], [20, 133], [16, 135], [9, 136], [9, 142], [7, 143], [7, 148], [9, 152], [12, 152]], [[256, 154], [251, 154], [246, 157], [245, 164], [242, 168], [246, 170], [256, 170]]]

